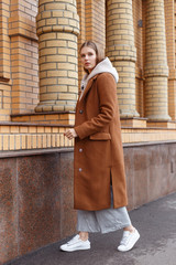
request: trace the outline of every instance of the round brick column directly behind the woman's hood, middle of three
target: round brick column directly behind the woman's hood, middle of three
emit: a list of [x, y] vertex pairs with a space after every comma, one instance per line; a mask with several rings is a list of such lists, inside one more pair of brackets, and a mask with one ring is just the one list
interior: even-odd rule
[[132, 0], [107, 2], [107, 56], [119, 72], [121, 117], [139, 116], [135, 106], [135, 62]]

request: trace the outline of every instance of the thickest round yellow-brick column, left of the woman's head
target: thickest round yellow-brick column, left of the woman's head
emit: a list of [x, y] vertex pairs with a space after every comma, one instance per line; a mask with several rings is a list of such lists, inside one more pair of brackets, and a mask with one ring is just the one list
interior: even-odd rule
[[40, 0], [40, 104], [35, 112], [74, 110], [78, 94], [76, 0]]

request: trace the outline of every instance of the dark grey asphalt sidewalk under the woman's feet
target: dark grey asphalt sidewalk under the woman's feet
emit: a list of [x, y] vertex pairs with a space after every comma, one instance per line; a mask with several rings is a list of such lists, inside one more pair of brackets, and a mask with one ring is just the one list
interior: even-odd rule
[[176, 193], [130, 212], [141, 233], [136, 246], [120, 253], [116, 248], [122, 231], [91, 234], [91, 250], [59, 251], [65, 241], [50, 245], [6, 265], [176, 265]]

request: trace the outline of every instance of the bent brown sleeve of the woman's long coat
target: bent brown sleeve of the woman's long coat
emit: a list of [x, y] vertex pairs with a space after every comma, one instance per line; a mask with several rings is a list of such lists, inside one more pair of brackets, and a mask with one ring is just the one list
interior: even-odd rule
[[117, 84], [109, 73], [100, 74], [97, 77], [100, 113], [90, 120], [75, 127], [80, 139], [101, 131], [113, 118], [117, 109]]

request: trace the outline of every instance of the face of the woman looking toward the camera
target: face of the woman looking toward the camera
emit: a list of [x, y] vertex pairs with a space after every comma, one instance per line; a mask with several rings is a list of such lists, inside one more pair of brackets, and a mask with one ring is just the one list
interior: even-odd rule
[[90, 73], [97, 64], [97, 55], [95, 50], [89, 46], [82, 47], [80, 51], [80, 57], [82, 66]]

